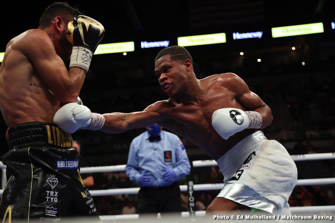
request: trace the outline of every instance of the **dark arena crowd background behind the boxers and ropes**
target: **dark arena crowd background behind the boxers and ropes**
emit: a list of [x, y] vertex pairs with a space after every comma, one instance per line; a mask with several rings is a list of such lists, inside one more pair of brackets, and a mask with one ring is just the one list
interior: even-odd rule
[[[16, 14], [21, 16], [8, 18], [1, 14], [4, 16], [1, 20], [10, 19], [10, 23], [17, 27], [3, 26], [0, 52], [4, 52], [6, 43], [15, 35], [36, 28], [43, 9], [52, 2], [38, 1], [34, 6], [29, 2], [2, 3], [4, 8], [15, 6]], [[246, 2], [248, 5], [244, 8], [239, 6]], [[176, 45], [177, 36], [226, 32], [227, 43], [186, 47], [193, 57], [197, 77], [202, 79], [226, 72], [242, 77], [272, 109], [273, 123], [263, 132], [268, 139], [281, 142], [292, 156], [335, 152], [335, 30], [331, 28], [334, 1], [318, 0], [307, 4], [302, 0], [183, 0], [169, 3], [126, 0], [95, 1], [93, 5], [82, 2], [80, 6], [87, 15], [104, 24], [106, 34], [102, 44], [135, 41], [137, 46], [140, 41], [171, 39], [170, 45]], [[153, 10], [149, 10], [149, 6], [153, 6]], [[27, 10], [32, 7], [34, 13]], [[270, 27], [321, 21], [324, 22], [324, 33], [284, 38], [266, 35]], [[232, 32], [263, 28], [262, 39], [231, 38]], [[126, 56], [122, 53], [94, 55], [79, 95], [83, 103], [92, 112], [128, 113], [167, 99], [153, 72], [154, 57], [161, 49], [136, 47]], [[5, 151], [8, 149], [4, 138], [7, 127], [2, 119], [0, 126], [1, 150]], [[131, 140], [144, 131], [143, 128], [112, 135], [80, 130], [73, 134], [73, 138], [81, 141], [82, 158], [89, 166], [121, 165], [127, 163]], [[181, 139], [191, 162], [210, 159], [201, 149]], [[298, 179], [335, 177], [333, 159], [297, 161], [296, 165]], [[194, 168], [194, 174], [195, 183], [223, 181], [217, 166]], [[93, 176], [95, 185], [90, 188], [92, 190], [138, 187], [125, 171], [93, 173]], [[186, 183], [187, 178], [180, 180], [180, 184]], [[197, 210], [205, 210], [218, 192], [196, 192]], [[334, 193], [332, 184], [296, 186], [289, 203], [291, 206], [335, 205]], [[181, 197], [183, 210], [187, 211], [187, 194], [183, 192]], [[100, 215], [122, 214], [124, 206], [137, 205], [137, 195], [98, 196], [94, 200]]]

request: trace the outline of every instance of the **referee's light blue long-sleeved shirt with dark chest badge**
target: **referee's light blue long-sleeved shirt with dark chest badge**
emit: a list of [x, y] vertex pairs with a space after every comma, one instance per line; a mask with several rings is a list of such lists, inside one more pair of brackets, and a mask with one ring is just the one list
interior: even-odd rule
[[[162, 130], [160, 141], [149, 141], [149, 133], [143, 132], [135, 137], [128, 154], [125, 168], [129, 179], [138, 185], [144, 172], [150, 177], [147, 187], [165, 187], [190, 173], [191, 165], [184, 144], [173, 133]], [[176, 176], [170, 181], [162, 178], [164, 168], [172, 168]]]

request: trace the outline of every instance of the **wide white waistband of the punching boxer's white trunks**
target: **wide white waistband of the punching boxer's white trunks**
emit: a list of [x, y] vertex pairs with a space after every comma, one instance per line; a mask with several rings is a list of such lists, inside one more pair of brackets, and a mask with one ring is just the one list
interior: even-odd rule
[[221, 172], [226, 180], [231, 174], [235, 173], [242, 165], [246, 156], [255, 148], [267, 140], [262, 131], [257, 131], [242, 139], [235, 146], [229, 149], [216, 162], [221, 169]]

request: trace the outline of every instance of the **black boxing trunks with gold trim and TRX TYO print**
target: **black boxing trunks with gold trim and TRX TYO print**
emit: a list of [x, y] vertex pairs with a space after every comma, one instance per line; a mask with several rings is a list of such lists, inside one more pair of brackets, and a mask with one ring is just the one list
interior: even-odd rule
[[1, 221], [65, 222], [69, 217], [85, 216], [89, 222], [101, 222], [81, 179], [70, 134], [43, 122], [16, 125], [8, 134]]

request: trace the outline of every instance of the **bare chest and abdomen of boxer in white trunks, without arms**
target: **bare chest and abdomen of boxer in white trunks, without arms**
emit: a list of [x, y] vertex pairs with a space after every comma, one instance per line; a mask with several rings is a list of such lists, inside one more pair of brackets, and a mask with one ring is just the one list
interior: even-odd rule
[[[224, 83], [225, 76], [222, 74], [221, 81]], [[202, 93], [194, 101], [180, 103], [176, 99], [156, 102], [147, 110], [155, 110], [169, 117], [160, 125], [172, 132], [186, 138], [199, 148], [203, 149], [212, 159], [217, 160], [240, 140], [255, 132], [255, 129], [246, 129], [236, 133], [227, 140], [222, 139], [213, 129], [212, 114], [215, 110], [223, 107], [244, 109], [236, 101], [235, 95], [229, 88], [217, 85], [218, 76], [210, 76], [200, 80]], [[222, 124], [224, 125], [224, 123]]]

